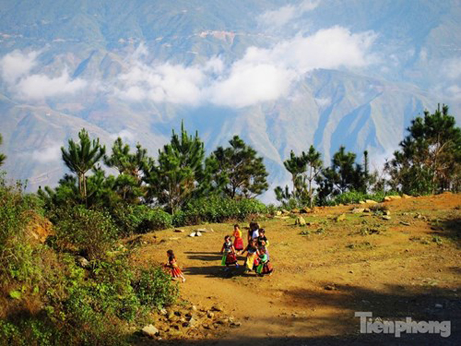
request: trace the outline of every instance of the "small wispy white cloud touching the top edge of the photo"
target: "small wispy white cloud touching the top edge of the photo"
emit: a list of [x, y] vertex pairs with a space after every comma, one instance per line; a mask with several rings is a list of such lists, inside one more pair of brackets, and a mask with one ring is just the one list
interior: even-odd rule
[[264, 26], [281, 27], [301, 17], [304, 13], [312, 11], [318, 6], [319, 1], [302, 1], [300, 4], [289, 4], [274, 11], [262, 13], [257, 19]]

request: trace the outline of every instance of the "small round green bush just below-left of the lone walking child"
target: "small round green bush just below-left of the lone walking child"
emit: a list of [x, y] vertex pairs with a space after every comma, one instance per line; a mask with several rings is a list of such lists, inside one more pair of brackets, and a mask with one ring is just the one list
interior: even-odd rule
[[179, 295], [177, 284], [160, 267], [141, 271], [138, 280], [133, 282], [133, 287], [143, 306], [155, 306], [159, 309], [172, 305]]

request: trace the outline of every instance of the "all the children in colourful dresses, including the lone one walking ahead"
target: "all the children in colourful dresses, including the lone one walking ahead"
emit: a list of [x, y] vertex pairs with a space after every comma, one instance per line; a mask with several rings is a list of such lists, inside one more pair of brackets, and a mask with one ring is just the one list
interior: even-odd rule
[[[238, 268], [237, 255], [243, 255], [247, 252], [247, 256], [245, 257], [245, 273], [255, 271], [257, 275], [262, 277], [274, 272], [274, 268], [269, 260], [269, 252], [267, 252], [269, 241], [266, 238], [264, 228], [260, 228], [260, 225], [257, 223], [250, 223], [248, 245], [245, 248], [239, 225], [234, 225], [233, 237], [234, 241], [232, 242], [230, 235], [226, 235], [223, 247], [221, 247], [221, 254], [223, 254], [221, 265], [226, 266], [226, 270], [231, 265], [235, 265]], [[182, 282], [185, 282], [186, 278], [177, 265], [173, 250], [168, 250], [167, 256], [168, 262], [164, 265], [167, 272], [170, 272], [172, 279], [182, 279]]]

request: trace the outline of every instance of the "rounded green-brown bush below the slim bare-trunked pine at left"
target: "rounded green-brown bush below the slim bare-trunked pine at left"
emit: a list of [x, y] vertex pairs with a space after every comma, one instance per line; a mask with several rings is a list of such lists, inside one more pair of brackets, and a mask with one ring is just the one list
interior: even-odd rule
[[72, 245], [85, 257], [104, 257], [116, 239], [118, 230], [109, 213], [74, 206], [57, 211], [57, 242]]

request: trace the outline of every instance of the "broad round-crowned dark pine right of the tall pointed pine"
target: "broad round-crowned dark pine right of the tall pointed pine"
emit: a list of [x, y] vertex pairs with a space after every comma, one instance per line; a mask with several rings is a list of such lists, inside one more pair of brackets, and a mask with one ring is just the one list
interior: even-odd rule
[[252, 198], [267, 190], [266, 167], [262, 157], [235, 135], [230, 147], [218, 147], [207, 160], [214, 186], [231, 199]]

